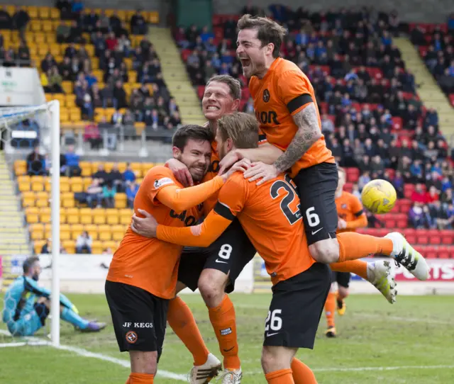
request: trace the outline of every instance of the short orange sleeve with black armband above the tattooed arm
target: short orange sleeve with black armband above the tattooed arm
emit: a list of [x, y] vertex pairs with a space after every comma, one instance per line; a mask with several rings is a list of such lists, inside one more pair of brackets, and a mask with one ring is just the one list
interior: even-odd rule
[[300, 71], [287, 71], [279, 76], [277, 94], [284, 102], [291, 115], [302, 111], [314, 99], [311, 94], [309, 79]]

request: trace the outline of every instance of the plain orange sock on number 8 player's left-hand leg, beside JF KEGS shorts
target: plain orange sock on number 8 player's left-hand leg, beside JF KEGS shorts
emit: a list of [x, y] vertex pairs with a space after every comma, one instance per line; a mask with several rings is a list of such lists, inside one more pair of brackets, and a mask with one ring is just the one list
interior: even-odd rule
[[184, 301], [177, 297], [170, 300], [167, 322], [177, 337], [194, 357], [194, 366], [201, 366], [206, 363], [209, 351], [206, 348], [204, 339], [201, 337], [194, 315]]

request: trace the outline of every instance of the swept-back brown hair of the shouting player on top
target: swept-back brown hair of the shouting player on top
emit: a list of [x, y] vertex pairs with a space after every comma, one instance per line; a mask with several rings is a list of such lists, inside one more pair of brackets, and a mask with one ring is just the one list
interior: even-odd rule
[[238, 20], [238, 31], [243, 29], [257, 30], [257, 38], [264, 45], [272, 43], [275, 48], [272, 50], [272, 57], [279, 57], [284, 36], [287, 35], [287, 29], [279, 26], [278, 23], [267, 17], [255, 17], [248, 14]]

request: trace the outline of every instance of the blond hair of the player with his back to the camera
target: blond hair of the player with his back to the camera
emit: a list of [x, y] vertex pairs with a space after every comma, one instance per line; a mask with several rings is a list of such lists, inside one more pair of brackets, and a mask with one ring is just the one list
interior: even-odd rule
[[258, 146], [258, 121], [254, 115], [244, 112], [234, 112], [223, 115], [218, 120], [218, 132], [222, 140], [229, 137], [233, 145], [240, 149]]

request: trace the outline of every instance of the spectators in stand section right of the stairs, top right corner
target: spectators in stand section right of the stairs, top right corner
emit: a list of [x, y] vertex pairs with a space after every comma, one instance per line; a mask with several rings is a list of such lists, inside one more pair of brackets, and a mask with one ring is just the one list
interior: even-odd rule
[[436, 26], [411, 26], [411, 42], [419, 47], [421, 57], [454, 106], [454, 13], [448, 23]]

